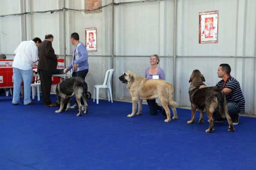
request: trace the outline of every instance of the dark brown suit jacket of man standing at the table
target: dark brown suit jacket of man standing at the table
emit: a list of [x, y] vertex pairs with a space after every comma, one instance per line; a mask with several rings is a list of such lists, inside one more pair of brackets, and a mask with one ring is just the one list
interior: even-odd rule
[[52, 42], [44, 40], [38, 47], [38, 70], [52, 71], [57, 68], [57, 57], [52, 48]]

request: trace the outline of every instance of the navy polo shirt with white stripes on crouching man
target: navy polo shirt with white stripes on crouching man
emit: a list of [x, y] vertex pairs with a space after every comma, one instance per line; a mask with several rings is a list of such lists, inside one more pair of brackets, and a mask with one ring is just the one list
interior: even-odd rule
[[[216, 87], [222, 89], [223, 85], [224, 85], [224, 80], [222, 79], [216, 84]], [[240, 113], [244, 113], [245, 100], [244, 100], [244, 95], [242, 94], [239, 82], [234, 77], [230, 77], [229, 79], [227, 79], [227, 82], [224, 88], [229, 88], [232, 90], [230, 94], [226, 94], [227, 102], [233, 103], [237, 108], [239, 107]]]

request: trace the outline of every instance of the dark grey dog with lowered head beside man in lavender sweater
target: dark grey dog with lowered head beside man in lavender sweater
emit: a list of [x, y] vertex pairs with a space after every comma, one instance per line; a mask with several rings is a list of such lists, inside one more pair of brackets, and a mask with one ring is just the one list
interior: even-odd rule
[[79, 113], [76, 116], [81, 116], [82, 105], [81, 98], [84, 101], [85, 110], [84, 113], [88, 113], [88, 105], [86, 100], [91, 98], [90, 92], [87, 91], [87, 84], [81, 77], [71, 77], [69, 79], [60, 82], [56, 86], [57, 105], [60, 105], [60, 109], [55, 113], [60, 113], [66, 106], [65, 111], [69, 111], [70, 102], [73, 96], [76, 96], [76, 102], [79, 106]]

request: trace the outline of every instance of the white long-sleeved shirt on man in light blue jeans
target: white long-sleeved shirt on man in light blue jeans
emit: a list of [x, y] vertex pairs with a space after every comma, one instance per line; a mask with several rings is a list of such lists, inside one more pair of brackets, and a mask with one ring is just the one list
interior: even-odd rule
[[32, 64], [38, 60], [38, 48], [32, 40], [20, 42], [14, 54], [12, 67], [21, 70], [32, 69]]

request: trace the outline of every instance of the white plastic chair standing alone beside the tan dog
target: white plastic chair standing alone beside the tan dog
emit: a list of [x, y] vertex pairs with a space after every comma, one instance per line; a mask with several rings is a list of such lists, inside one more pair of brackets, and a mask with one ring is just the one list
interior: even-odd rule
[[108, 92], [108, 102], [110, 102], [110, 98], [111, 98], [111, 102], [113, 103], [112, 90], [111, 90], [111, 84], [110, 84], [113, 71], [114, 71], [114, 69], [110, 69], [110, 70], [106, 71], [105, 79], [104, 79], [104, 82], [102, 85], [94, 85], [93, 102], [95, 101], [95, 90], [96, 90], [96, 103], [99, 104], [99, 89], [106, 88], [107, 92]]

